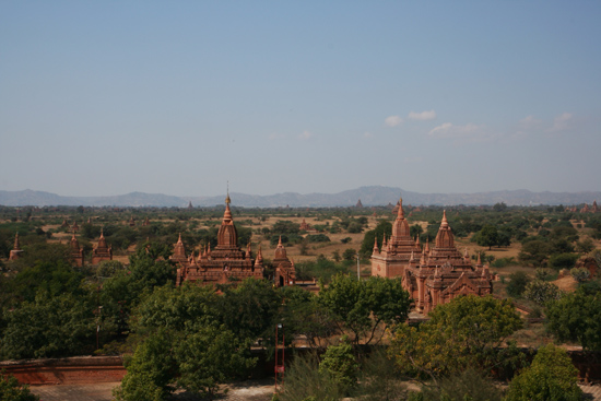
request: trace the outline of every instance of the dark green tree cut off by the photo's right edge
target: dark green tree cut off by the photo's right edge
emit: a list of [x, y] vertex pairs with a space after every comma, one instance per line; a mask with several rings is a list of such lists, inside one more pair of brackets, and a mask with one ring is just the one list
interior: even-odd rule
[[566, 294], [549, 303], [546, 318], [546, 328], [557, 340], [601, 351], [601, 293], [579, 288]]

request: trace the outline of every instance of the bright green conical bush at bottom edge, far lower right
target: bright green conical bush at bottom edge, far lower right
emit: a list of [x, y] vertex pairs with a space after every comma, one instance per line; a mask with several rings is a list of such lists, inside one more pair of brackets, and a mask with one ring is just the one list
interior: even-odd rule
[[507, 401], [577, 401], [582, 397], [578, 370], [567, 353], [553, 345], [537, 352], [532, 365], [514, 377]]

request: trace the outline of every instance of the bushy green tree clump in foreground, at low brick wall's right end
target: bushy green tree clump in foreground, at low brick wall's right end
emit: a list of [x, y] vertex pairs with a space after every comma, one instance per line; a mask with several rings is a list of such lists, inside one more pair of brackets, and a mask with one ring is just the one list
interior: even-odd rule
[[219, 385], [240, 378], [256, 363], [249, 342], [215, 322], [191, 322], [184, 330], [161, 327], [126, 363], [117, 400], [164, 400], [176, 389], [213, 399]]

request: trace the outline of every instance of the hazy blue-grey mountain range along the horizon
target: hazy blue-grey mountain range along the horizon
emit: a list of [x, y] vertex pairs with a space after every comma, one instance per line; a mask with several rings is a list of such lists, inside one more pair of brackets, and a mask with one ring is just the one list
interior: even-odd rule
[[[526, 189], [514, 191], [494, 191], [476, 193], [419, 193], [401, 188], [372, 186], [351, 189], [338, 193], [296, 193], [284, 192], [257, 196], [232, 192], [232, 204], [245, 208], [328, 208], [354, 207], [361, 199], [364, 207], [394, 204], [399, 196], [403, 203], [413, 205], [479, 205], [505, 202], [507, 205], [535, 204], [581, 204], [601, 201], [601, 192], [531, 192]], [[62, 197], [56, 193], [34, 191], [0, 190], [0, 205], [7, 207], [178, 207], [189, 202], [193, 207], [214, 207], [223, 204], [225, 196], [219, 197], [172, 197], [163, 193], [131, 192], [114, 197]]]

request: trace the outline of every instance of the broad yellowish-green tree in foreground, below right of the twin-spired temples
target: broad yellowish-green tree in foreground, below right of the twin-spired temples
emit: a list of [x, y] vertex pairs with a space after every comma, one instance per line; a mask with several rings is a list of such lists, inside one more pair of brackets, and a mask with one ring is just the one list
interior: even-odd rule
[[419, 328], [404, 323], [397, 329], [390, 352], [405, 373], [436, 381], [468, 367], [490, 369], [514, 361], [515, 347], [499, 349], [522, 327], [509, 300], [460, 296], [437, 306], [429, 317]]

